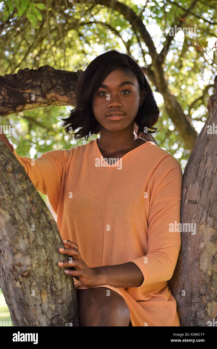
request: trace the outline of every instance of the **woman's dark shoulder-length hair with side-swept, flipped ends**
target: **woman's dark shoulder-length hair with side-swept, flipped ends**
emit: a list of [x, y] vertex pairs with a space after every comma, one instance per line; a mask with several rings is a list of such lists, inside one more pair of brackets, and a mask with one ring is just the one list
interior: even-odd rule
[[[73, 131], [72, 134], [75, 139], [85, 137], [88, 140], [88, 137], [92, 134], [100, 132], [100, 124], [95, 119], [92, 110], [92, 98], [106, 76], [115, 68], [121, 68], [127, 74], [136, 77], [139, 89], [147, 93], [134, 119], [137, 137], [141, 133], [157, 132], [157, 127], [152, 126], [156, 124], [160, 111], [152, 89], [146, 80], [146, 75], [148, 76], [148, 74], [145, 73], [131, 55], [120, 53], [117, 50], [110, 50], [96, 57], [81, 74], [75, 91], [75, 109], [71, 110], [67, 119], [60, 118], [64, 121], [62, 126], [65, 127], [65, 131], [68, 134], [71, 134], [71, 131]], [[154, 131], [147, 131], [148, 128]]]

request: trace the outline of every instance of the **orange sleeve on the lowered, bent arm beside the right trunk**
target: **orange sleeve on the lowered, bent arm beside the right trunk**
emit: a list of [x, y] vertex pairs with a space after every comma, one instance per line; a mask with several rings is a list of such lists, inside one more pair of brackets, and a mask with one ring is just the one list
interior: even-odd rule
[[182, 179], [181, 166], [171, 155], [166, 156], [154, 171], [148, 217], [148, 253], [129, 261], [135, 263], [144, 276], [137, 288], [168, 281], [173, 275], [181, 246], [177, 225], [180, 223]]

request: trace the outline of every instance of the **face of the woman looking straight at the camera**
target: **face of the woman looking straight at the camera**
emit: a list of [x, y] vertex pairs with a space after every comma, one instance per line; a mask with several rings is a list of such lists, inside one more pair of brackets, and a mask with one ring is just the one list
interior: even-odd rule
[[[93, 114], [101, 124], [100, 128], [117, 132], [130, 124], [134, 125], [134, 119], [145, 96], [145, 91], [139, 91], [136, 78], [127, 75], [122, 69], [113, 70], [104, 79], [92, 99]], [[108, 114], [119, 115], [107, 116]]]

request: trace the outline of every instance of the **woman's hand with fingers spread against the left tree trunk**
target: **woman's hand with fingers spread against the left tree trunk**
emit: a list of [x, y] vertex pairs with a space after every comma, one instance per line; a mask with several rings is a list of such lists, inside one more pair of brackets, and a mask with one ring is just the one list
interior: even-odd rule
[[64, 270], [65, 274], [75, 277], [85, 287], [94, 287], [96, 285], [96, 273], [93, 268], [89, 268], [83, 261], [80, 252], [78, 251], [78, 245], [70, 240], [62, 240], [64, 245], [68, 247], [60, 247], [58, 250], [60, 253], [65, 253], [73, 258], [66, 261], [59, 261], [57, 264], [59, 267], [75, 267], [76, 270]]

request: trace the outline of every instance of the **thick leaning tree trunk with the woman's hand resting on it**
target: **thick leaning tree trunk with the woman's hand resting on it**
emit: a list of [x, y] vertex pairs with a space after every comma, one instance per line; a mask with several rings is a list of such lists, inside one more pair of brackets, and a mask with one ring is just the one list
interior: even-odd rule
[[14, 326], [79, 326], [56, 222], [24, 167], [0, 141], [0, 287]]

